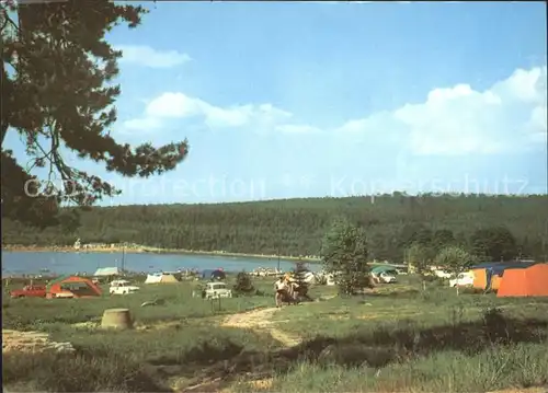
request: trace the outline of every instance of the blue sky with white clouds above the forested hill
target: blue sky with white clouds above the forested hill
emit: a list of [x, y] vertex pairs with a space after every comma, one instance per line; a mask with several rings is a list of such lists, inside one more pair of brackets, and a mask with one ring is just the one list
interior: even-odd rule
[[103, 205], [547, 193], [544, 2], [144, 5], [112, 135], [191, 148]]

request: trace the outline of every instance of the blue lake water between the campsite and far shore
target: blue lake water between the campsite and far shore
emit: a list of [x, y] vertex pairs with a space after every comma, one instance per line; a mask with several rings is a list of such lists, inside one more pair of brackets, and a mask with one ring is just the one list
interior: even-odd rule
[[[55, 274], [93, 274], [99, 267], [122, 267], [122, 253], [55, 253], [55, 252], [4, 252], [2, 251], [2, 277], [38, 274], [48, 269]], [[279, 268], [289, 270], [294, 262], [279, 261]], [[239, 258], [227, 256], [183, 255], [183, 254], [130, 254], [124, 256], [124, 267], [132, 271], [174, 271], [178, 269], [216, 269], [226, 271], [251, 271], [258, 267], [277, 267], [277, 259]], [[321, 266], [310, 264], [311, 270]]]

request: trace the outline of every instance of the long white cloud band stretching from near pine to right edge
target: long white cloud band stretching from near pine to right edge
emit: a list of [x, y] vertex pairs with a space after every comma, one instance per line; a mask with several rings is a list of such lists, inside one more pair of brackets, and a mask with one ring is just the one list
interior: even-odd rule
[[546, 80], [547, 69], [543, 67], [516, 70], [484, 91], [465, 83], [438, 88], [422, 103], [350, 119], [333, 129], [299, 124], [292, 113], [272, 104], [221, 107], [180, 92], [165, 92], [148, 103], [144, 118], [126, 122], [125, 127], [146, 130], [158, 128], [162, 119], [197, 118], [215, 129], [329, 132], [339, 138], [352, 136], [354, 141], [381, 141], [423, 155], [511, 152], [546, 146]]

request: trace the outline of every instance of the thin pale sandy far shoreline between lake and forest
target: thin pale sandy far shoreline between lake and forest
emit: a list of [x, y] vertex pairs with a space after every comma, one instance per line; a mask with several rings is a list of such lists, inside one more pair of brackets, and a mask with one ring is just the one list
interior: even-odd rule
[[20, 245], [5, 244], [2, 245], [2, 252], [16, 253], [90, 253], [90, 254], [172, 254], [172, 255], [203, 255], [203, 256], [220, 256], [220, 257], [237, 257], [249, 259], [270, 259], [270, 261], [288, 261], [288, 262], [308, 262], [319, 263], [321, 259], [310, 256], [288, 256], [288, 255], [263, 255], [263, 254], [243, 254], [228, 253], [221, 251], [194, 251], [194, 250], [175, 250], [175, 248], [156, 248], [147, 246], [123, 247], [119, 245], [110, 247], [88, 247], [76, 250], [71, 246], [37, 246], [37, 245]]

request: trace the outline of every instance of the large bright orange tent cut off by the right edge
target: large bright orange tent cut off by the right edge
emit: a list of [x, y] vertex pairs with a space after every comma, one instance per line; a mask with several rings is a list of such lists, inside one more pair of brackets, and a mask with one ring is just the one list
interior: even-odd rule
[[548, 264], [504, 270], [496, 297], [548, 297]]

